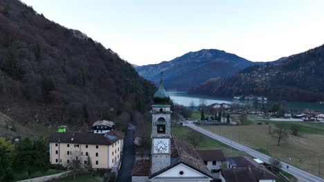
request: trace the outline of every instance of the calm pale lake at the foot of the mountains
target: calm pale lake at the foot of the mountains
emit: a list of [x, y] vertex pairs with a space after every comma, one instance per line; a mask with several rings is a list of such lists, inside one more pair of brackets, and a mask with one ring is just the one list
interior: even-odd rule
[[[206, 104], [210, 105], [212, 103], [239, 103], [246, 104], [248, 101], [237, 101], [233, 98], [226, 97], [210, 97], [200, 94], [188, 94], [187, 92], [168, 92], [170, 94], [170, 99], [174, 103], [178, 103], [184, 106], [189, 106], [190, 101], [193, 101], [195, 105], [199, 105], [199, 99], [206, 99]], [[269, 104], [278, 103], [278, 101], [269, 101]], [[282, 103], [288, 108], [288, 110], [317, 110], [319, 112], [324, 112], [324, 104], [316, 102], [291, 102], [291, 101], [282, 101]]]

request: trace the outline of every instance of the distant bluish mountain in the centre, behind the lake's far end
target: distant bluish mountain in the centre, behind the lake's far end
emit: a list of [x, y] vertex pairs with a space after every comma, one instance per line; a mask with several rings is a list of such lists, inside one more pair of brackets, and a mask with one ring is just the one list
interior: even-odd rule
[[159, 83], [163, 71], [165, 88], [188, 90], [193, 85], [213, 77], [228, 77], [254, 63], [223, 50], [199, 50], [188, 52], [172, 61], [143, 65], [136, 68], [138, 74], [154, 83]]

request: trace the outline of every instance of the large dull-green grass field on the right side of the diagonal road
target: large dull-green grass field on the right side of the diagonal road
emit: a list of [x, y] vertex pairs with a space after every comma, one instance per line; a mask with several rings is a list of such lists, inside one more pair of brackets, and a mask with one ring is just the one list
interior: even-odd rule
[[[268, 134], [269, 125], [201, 125], [201, 128], [225, 136], [228, 139], [233, 139], [237, 143], [242, 143], [250, 148], [274, 156], [303, 170], [318, 174], [318, 154], [324, 158], [324, 134], [312, 133], [321, 130], [321, 127], [324, 128], [324, 124], [308, 125], [308, 123], [301, 122], [285, 124], [291, 125], [293, 123], [303, 127], [300, 128], [300, 136], [289, 134], [287, 140], [280, 147], [277, 146], [277, 139]], [[321, 160], [321, 166], [324, 167], [323, 161], [324, 159]], [[324, 174], [323, 167], [321, 168], [322, 175]]]

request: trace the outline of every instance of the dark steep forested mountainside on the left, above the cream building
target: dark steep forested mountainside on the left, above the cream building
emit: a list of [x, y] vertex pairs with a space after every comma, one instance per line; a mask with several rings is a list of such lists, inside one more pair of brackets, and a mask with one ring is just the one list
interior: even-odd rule
[[0, 112], [23, 124], [90, 124], [148, 110], [155, 86], [78, 30], [0, 1]]

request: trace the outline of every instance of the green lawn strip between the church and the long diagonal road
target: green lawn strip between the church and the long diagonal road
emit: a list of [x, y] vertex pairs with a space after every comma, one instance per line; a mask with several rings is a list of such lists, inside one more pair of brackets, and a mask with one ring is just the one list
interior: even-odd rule
[[[172, 133], [176, 136], [178, 136], [180, 139], [186, 140], [186, 136], [188, 136], [188, 133], [196, 132], [195, 130], [192, 130], [191, 128], [188, 128], [186, 126], [181, 125], [172, 125]], [[220, 149], [223, 150], [225, 156], [242, 156], [242, 155], [249, 155], [245, 152], [242, 152], [240, 150], [236, 150], [235, 148], [232, 148], [224, 143], [221, 143], [219, 141], [216, 141], [215, 139], [211, 139], [210, 137], [199, 133], [201, 135], [201, 143], [197, 146], [198, 149]]]

